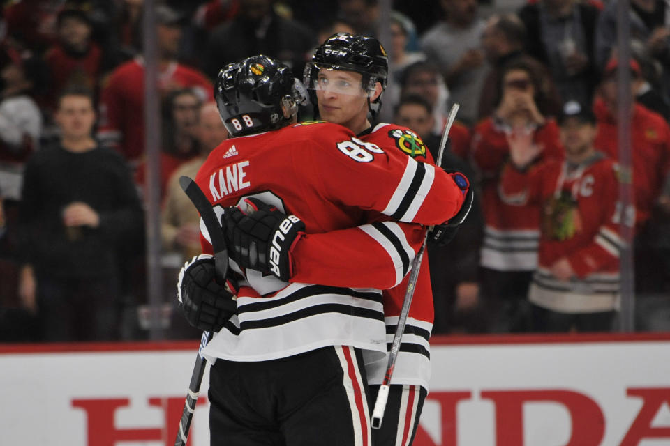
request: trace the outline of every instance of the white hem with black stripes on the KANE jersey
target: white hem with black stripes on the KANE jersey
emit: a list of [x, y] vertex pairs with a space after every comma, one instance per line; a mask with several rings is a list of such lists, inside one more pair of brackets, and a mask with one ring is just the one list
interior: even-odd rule
[[377, 289], [295, 283], [267, 298], [241, 291], [237, 308], [204, 349], [208, 359], [265, 361], [336, 345], [362, 348], [375, 358], [386, 351]]

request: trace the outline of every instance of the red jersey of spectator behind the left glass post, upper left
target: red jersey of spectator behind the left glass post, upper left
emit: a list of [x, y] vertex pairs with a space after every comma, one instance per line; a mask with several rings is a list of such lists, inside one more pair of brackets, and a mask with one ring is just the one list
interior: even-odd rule
[[[176, 62], [158, 73], [161, 94], [193, 88], [202, 100], [214, 95], [211, 82], [200, 72]], [[100, 131], [103, 144], [116, 147], [126, 160], [137, 163], [144, 155], [144, 61], [121, 64], [105, 82], [100, 98]]]

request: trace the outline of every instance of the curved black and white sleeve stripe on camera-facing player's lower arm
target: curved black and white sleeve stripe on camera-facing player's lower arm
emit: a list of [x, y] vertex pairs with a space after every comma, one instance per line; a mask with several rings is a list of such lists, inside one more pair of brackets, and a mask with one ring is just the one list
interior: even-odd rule
[[371, 236], [389, 254], [396, 270], [394, 286], [402, 282], [412, 266], [415, 253], [407, 241], [405, 233], [395, 222], [375, 222], [359, 226], [364, 233]]

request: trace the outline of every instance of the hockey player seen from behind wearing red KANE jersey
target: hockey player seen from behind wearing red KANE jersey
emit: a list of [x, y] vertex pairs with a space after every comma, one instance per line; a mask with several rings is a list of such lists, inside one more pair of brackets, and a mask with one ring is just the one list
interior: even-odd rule
[[[292, 240], [362, 224], [371, 211], [441, 224], [459, 210], [463, 191], [450, 174], [362, 141], [339, 125], [285, 127], [295, 121], [296, 96], [290, 70], [265, 56], [221, 71], [216, 99], [234, 138], [211, 153], [196, 178], [218, 213], [271, 203], [291, 214], [278, 229]], [[402, 231], [389, 232], [404, 238]], [[211, 252], [208, 237], [203, 230], [205, 252]], [[270, 272], [286, 270], [291, 247], [275, 241], [274, 253], [268, 251]], [[415, 254], [409, 245], [399, 245], [403, 265]], [[201, 256], [188, 263], [179, 282], [188, 321], [218, 330], [203, 351], [216, 360], [210, 371], [211, 444], [225, 438], [226, 445], [266, 445], [268, 439], [299, 445], [318, 438], [322, 445], [370, 445], [362, 366], [363, 355], [373, 361], [386, 352], [381, 292], [289, 284], [233, 260], [237, 314], [213, 325], [217, 317], [211, 314], [221, 316], [214, 301], [232, 296], [212, 282], [212, 262]]]

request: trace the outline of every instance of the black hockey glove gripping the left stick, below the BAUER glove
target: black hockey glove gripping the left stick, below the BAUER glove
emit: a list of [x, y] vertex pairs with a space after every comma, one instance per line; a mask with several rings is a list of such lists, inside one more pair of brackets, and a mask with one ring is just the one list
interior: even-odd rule
[[179, 271], [177, 298], [188, 323], [203, 331], [218, 332], [237, 312], [235, 296], [214, 280], [214, 257], [201, 254]]

